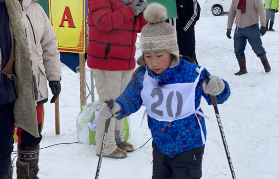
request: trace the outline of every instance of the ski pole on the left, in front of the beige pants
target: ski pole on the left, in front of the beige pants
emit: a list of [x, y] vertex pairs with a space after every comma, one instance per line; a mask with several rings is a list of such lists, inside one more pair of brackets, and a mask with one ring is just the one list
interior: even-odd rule
[[[110, 99], [109, 101], [105, 100], [105, 103], [108, 103], [109, 108], [112, 109], [113, 108], [114, 100], [113, 99]], [[103, 154], [104, 154], [104, 150], [105, 150], [107, 134], [108, 134], [108, 130], [109, 130], [109, 126], [110, 126], [110, 123], [111, 123], [112, 116], [106, 120], [105, 132], [104, 132], [104, 136], [103, 136], [103, 142], [102, 142], [102, 146], [101, 146], [101, 152], [100, 152], [100, 155], [99, 155], [99, 161], [98, 161], [98, 166], [97, 166], [97, 171], [96, 171], [95, 179], [99, 178], [100, 169], [101, 169], [101, 163], [102, 163]]]

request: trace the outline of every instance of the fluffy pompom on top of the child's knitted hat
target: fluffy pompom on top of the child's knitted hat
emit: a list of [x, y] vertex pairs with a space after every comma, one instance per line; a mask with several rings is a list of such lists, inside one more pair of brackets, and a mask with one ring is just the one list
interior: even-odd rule
[[143, 12], [145, 20], [149, 23], [163, 22], [167, 19], [167, 10], [160, 3], [149, 3]]

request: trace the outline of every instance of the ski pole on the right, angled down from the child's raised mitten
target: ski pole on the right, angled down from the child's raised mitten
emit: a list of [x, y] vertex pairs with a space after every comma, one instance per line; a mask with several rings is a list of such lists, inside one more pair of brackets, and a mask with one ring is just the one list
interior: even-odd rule
[[[207, 71], [205, 70], [204, 71], [204, 82], [205, 82], [205, 84], [208, 84], [209, 80], [210, 79], [207, 75]], [[218, 107], [217, 107], [217, 100], [216, 100], [216, 97], [214, 95], [210, 95], [210, 99], [211, 99], [212, 105], [214, 107], [214, 111], [215, 111], [215, 115], [216, 115], [216, 118], [217, 118], [219, 130], [220, 130], [222, 140], [223, 140], [223, 145], [224, 145], [226, 155], [227, 155], [227, 160], [228, 160], [228, 163], [229, 163], [229, 166], [230, 166], [230, 169], [231, 169], [232, 177], [233, 177], [233, 179], [236, 179], [235, 171], [234, 171], [234, 167], [233, 167], [233, 162], [232, 162], [232, 159], [231, 159], [231, 155], [230, 155], [230, 152], [229, 152], [229, 147], [228, 147], [226, 137], [225, 137], [225, 132], [224, 132], [224, 129], [223, 129], [223, 125], [222, 125], [220, 114], [219, 114]]]

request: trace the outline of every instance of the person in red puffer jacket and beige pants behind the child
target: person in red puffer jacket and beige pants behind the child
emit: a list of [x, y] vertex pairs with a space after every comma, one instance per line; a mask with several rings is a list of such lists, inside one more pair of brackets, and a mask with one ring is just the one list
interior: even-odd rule
[[[89, 0], [87, 65], [93, 69], [100, 106], [122, 94], [136, 67], [138, 32], [146, 24], [140, 14], [147, 6], [139, 0]], [[98, 117], [96, 154], [100, 155], [106, 120]], [[124, 140], [124, 119], [111, 119], [104, 156], [125, 158], [134, 146]]]

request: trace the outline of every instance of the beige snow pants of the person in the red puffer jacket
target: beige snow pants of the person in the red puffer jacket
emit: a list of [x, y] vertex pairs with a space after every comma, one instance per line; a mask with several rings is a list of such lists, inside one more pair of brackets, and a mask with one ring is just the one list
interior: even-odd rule
[[[102, 106], [105, 100], [115, 99], [120, 94], [123, 93], [124, 89], [128, 85], [133, 75], [133, 70], [131, 71], [107, 71], [93, 69], [93, 76], [96, 82], [96, 89], [99, 95], [100, 106]], [[105, 131], [106, 119], [103, 119], [98, 115], [97, 120], [97, 130], [96, 130], [96, 154], [99, 155], [101, 151], [103, 135]], [[117, 145], [124, 142], [124, 119], [117, 120], [116, 118], [111, 118], [111, 123], [109, 126], [104, 156], [110, 155], [117, 149]]]

